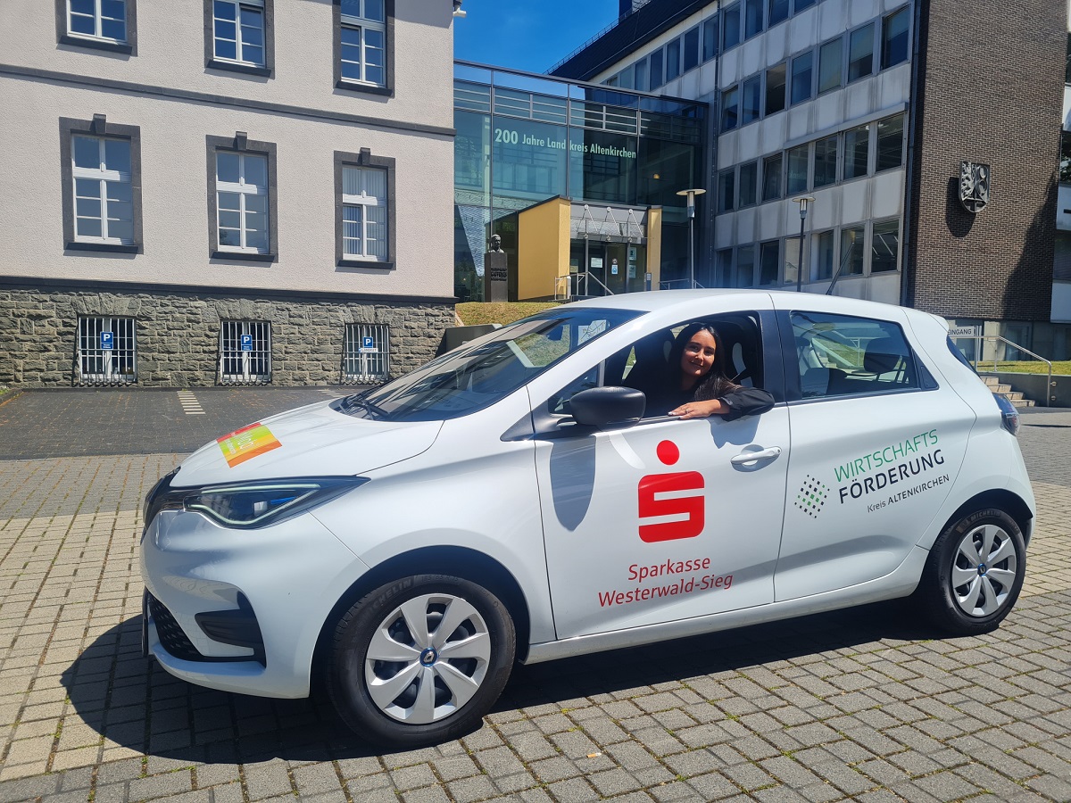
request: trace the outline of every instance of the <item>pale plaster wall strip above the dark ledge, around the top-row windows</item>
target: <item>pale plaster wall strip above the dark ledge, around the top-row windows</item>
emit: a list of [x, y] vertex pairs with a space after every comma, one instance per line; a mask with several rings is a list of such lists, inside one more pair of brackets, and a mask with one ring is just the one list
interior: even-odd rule
[[140, 0], [137, 55], [57, 45], [54, 0], [0, 0], [0, 62], [276, 104], [453, 126], [453, 5], [398, 0], [394, 97], [334, 89], [331, 0], [275, 0], [271, 78], [205, 66], [203, 0]]

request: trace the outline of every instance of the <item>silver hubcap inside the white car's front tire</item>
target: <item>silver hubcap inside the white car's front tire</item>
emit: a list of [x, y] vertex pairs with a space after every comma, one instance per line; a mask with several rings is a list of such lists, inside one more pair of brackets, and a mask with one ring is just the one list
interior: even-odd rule
[[471, 604], [450, 594], [402, 603], [368, 643], [364, 680], [391, 718], [424, 725], [450, 716], [480, 690], [491, 661], [491, 634]]

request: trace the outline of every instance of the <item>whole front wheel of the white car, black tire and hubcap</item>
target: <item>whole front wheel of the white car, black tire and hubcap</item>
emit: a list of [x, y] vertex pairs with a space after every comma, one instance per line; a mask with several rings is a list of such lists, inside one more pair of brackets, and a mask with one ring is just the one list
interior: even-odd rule
[[447, 575], [405, 577], [340, 619], [328, 693], [343, 721], [376, 745], [449, 741], [479, 727], [515, 649], [513, 620], [487, 589]]

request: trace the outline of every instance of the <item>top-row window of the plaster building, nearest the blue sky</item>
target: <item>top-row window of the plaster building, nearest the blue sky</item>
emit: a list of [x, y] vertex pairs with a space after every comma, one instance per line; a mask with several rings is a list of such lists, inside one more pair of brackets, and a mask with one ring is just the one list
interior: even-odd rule
[[336, 87], [390, 92], [393, 11], [392, 0], [334, 0]]

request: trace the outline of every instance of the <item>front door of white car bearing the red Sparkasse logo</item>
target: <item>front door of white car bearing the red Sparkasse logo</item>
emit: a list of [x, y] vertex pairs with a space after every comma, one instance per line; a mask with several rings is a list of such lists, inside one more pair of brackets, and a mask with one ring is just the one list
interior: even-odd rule
[[[765, 364], [779, 368], [772, 316], [766, 321]], [[562, 399], [607, 383], [613, 363], [532, 399], [533, 419], [544, 422], [536, 469], [558, 638], [772, 602], [788, 463], [784, 405], [737, 421], [663, 416], [556, 431]]]

